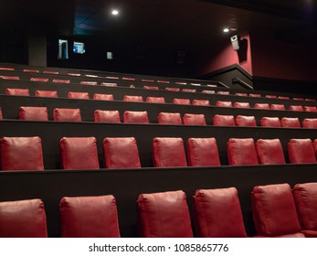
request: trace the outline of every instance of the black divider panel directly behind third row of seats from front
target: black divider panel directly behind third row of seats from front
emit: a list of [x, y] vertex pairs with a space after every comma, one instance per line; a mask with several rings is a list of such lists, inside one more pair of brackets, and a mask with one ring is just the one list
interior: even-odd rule
[[93, 101], [93, 100], [75, 100], [75, 99], [54, 99], [41, 97], [25, 97], [0, 95], [0, 106], [5, 119], [17, 119], [18, 109], [21, 106], [45, 106], [48, 108], [49, 120], [53, 120], [54, 108], [79, 108], [83, 121], [93, 121], [93, 112], [95, 110], [118, 110], [121, 113], [125, 111], [147, 111], [150, 123], [157, 123], [159, 112], [180, 112], [182, 116], [185, 113], [203, 113], [206, 123], [211, 125], [215, 114], [254, 115], [258, 126], [263, 116], [298, 117], [300, 121], [304, 118], [317, 118], [317, 112], [292, 112], [275, 111], [260, 109], [238, 109], [224, 108], [215, 106], [194, 106], [178, 104], [160, 104], [147, 102], [126, 102], [126, 101]]

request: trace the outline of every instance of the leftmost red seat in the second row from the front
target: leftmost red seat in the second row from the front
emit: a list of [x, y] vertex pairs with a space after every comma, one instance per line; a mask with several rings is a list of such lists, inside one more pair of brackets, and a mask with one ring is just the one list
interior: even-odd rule
[[44, 170], [39, 137], [3, 137], [0, 143], [2, 170]]

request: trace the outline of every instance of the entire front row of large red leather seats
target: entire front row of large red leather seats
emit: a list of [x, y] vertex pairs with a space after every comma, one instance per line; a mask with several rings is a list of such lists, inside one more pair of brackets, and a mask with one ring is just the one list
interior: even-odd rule
[[[317, 237], [317, 183], [257, 186], [251, 192], [257, 237]], [[197, 237], [246, 238], [236, 187], [198, 189], [193, 197]], [[186, 195], [182, 190], [141, 194], [137, 199], [140, 235], [192, 238]], [[119, 238], [115, 197], [62, 197], [63, 238]], [[40, 199], [0, 202], [0, 237], [48, 237]]]

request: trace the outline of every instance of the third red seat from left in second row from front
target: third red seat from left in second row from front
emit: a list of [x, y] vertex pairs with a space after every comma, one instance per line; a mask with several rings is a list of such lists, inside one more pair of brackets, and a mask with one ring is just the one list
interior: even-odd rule
[[105, 138], [102, 145], [106, 168], [141, 168], [135, 138]]

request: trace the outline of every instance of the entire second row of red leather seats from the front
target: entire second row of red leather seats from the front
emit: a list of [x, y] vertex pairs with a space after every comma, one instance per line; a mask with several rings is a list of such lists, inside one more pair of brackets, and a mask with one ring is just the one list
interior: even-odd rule
[[[3, 137], [0, 141], [2, 170], [44, 170], [39, 137]], [[62, 169], [99, 169], [95, 137], [63, 137], [60, 142]], [[133, 137], [108, 137], [102, 143], [106, 168], [140, 168], [138, 146]], [[189, 138], [186, 152], [182, 138], [153, 138], [154, 167], [219, 166], [215, 138]], [[317, 139], [291, 139], [291, 164], [316, 163]], [[229, 165], [286, 164], [279, 139], [230, 138], [227, 142]]]

